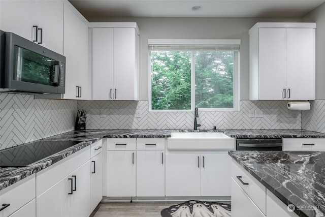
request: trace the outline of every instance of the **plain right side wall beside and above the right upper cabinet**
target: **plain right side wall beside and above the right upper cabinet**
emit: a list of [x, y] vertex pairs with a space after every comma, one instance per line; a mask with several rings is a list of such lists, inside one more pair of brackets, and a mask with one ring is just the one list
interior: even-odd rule
[[302, 20], [316, 22], [316, 99], [325, 99], [325, 3]]

